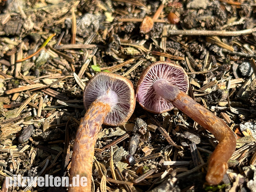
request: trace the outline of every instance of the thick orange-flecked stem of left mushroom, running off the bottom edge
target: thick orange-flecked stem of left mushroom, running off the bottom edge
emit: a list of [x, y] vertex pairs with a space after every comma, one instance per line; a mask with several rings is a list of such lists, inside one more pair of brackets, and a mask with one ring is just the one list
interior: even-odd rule
[[81, 120], [73, 147], [69, 183], [72, 183], [74, 176], [79, 175], [79, 178], [87, 177], [87, 186], [72, 186], [68, 189], [69, 192], [91, 192], [91, 175], [97, 134], [110, 110], [109, 104], [96, 100]]

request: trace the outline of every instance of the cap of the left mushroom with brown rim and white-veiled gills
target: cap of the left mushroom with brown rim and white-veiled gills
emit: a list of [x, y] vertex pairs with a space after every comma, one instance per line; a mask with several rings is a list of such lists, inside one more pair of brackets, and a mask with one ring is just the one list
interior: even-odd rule
[[[111, 92], [115, 104], [105, 117], [103, 124], [110, 126], [122, 125], [128, 121], [135, 108], [135, 95], [132, 82], [118, 74], [99, 72], [88, 81], [84, 92], [83, 101], [87, 110], [91, 103], [98, 97]], [[110, 98], [111, 99], [111, 98]]]

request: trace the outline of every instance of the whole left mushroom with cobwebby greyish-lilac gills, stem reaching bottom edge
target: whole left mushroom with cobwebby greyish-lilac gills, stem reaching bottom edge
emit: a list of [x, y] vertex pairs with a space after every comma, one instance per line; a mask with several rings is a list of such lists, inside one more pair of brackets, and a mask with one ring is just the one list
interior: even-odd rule
[[100, 72], [87, 83], [83, 92], [87, 112], [76, 132], [73, 147], [70, 181], [76, 175], [87, 178], [87, 186], [72, 186], [70, 192], [91, 191], [94, 147], [101, 125], [124, 124], [135, 108], [134, 88], [127, 78]]

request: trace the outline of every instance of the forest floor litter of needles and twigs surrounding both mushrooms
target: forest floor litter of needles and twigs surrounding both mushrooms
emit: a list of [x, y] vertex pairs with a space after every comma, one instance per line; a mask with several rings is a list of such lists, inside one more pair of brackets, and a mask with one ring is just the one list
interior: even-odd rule
[[[182, 66], [190, 97], [237, 136], [223, 182], [205, 183], [212, 134], [177, 109], [154, 115], [136, 105], [126, 124], [98, 134], [94, 190], [256, 191], [255, 1], [0, 0], [0, 12], [2, 191], [6, 176], [68, 175], [92, 76], [136, 85], [159, 60]], [[145, 17], [153, 27], [143, 34]]]

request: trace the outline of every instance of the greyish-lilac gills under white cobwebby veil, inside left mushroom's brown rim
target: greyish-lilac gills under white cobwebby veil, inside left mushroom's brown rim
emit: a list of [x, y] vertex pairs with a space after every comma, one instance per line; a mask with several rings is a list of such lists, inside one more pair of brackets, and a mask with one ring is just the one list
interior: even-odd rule
[[[118, 124], [127, 118], [130, 111], [130, 88], [124, 81], [98, 73], [97, 80], [90, 81], [83, 93], [84, 106], [87, 110], [91, 103], [107, 102], [111, 112], [107, 114], [104, 124]], [[95, 75], [95, 76], [96, 76]]]

